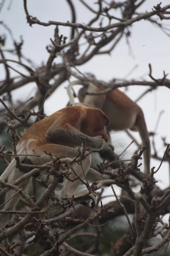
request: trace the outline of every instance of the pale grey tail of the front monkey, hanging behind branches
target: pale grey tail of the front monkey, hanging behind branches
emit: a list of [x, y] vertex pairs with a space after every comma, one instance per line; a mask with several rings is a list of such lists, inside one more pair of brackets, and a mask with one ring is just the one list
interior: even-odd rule
[[[20, 149], [20, 151], [17, 154], [26, 154], [26, 149], [24, 149], [24, 148]], [[26, 155], [20, 156], [20, 162], [22, 163], [25, 158], [26, 158]], [[16, 165], [16, 160], [13, 159], [11, 161], [11, 163], [8, 165], [8, 167], [6, 168], [6, 170], [3, 172], [3, 174], [0, 176], [0, 180], [5, 181], [6, 178], [8, 176], [10, 176], [11, 181], [13, 182], [14, 180], [17, 180], [19, 177], [21, 177], [23, 174], [22, 174], [22, 172], [20, 172], [20, 170], [18, 168], [15, 167], [15, 165]], [[9, 182], [9, 183], [12, 183], [12, 182]], [[25, 182], [25, 183], [27, 183], [27, 182]], [[22, 187], [26, 186], [26, 184], [23, 184], [23, 183], [21, 183], [21, 184], [22, 184]], [[13, 189], [9, 190], [6, 193], [5, 201], [8, 201], [8, 200], [9, 201], [6, 202], [3, 210], [13, 210], [14, 209], [15, 204], [17, 204], [17, 201], [20, 198], [20, 195], [19, 194], [14, 195], [15, 193], [16, 193], [16, 191], [14, 191]], [[13, 217], [13, 215], [11, 213], [0, 213], [0, 228], [5, 227], [6, 224], [8, 224], [8, 222], [11, 221], [12, 217]]]

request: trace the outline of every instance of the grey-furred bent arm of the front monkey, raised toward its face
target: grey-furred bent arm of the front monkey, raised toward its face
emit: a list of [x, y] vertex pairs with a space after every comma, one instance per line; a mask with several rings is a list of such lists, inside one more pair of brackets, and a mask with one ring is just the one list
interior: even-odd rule
[[80, 146], [82, 143], [81, 136], [85, 138], [87, 146], [93, 150], [101, 150], [103, 147], [102, 136], [89, 137], [77, 130], [68, 123], [54, 122], [46, 132], [46, 138], [57, 144], [68, 145], [72, 147]]

